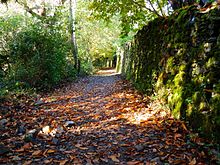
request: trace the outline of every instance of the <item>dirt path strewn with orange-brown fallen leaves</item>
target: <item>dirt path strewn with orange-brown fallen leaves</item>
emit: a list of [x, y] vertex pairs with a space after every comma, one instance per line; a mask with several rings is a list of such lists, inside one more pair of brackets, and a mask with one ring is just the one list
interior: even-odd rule
[[113, 70], [11, 109], [1, 121], [1, 164], [217, 163], [215, 149]]

